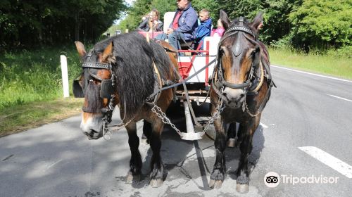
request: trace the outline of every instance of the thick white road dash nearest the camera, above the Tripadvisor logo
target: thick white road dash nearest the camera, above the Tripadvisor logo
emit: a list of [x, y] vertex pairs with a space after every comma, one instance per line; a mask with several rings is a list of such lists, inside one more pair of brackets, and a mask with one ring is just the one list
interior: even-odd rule
[[331, 167], [332, 169], [344, 174], [344, 176], [348, 177], [349, 179], [352, 178], [352, 166], [344, 163], [343, 161], [335, 158], [333, 155], [322, 151], [321, 149], [315, 146], [303, 146], [298, 147], [301, 151], [307, 153], [308, 155], [312, 156], [313, 158], [319, 160], [321, 163]]

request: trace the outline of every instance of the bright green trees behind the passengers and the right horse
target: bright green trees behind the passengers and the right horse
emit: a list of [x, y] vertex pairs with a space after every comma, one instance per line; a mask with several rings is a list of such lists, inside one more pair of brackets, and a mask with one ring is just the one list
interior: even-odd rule
[[[298, 48], [351, 46], [351, 0], [193, 0], [196, 11], [207, 8], [213, 25], [223, 10], [230, 19], [244, 16], [252, 20], [259, 11], [264, 13], [260, 40], [267, 44], [281, 43]], [[175, 1], [136, 0], [120, 28], [135, 30], [142, 15], [157, 8], [161, 16], [175, 11]]]

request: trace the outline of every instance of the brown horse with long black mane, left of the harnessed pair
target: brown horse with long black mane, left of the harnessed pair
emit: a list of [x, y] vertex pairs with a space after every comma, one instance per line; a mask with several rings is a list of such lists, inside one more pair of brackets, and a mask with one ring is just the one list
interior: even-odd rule
[[[174, 89], [165, 89], [156, 97], [149, 98], [153, 92], [175, 82], [177, 56], [166, 53], [163, 46], [156, 42], [147, 42], [137, 33], [120, 34], [95, 44], [88, 53], [84, 45], [75, 42], [82, 59], [83, 73], [80, 81], [74, 83], [74, 93], [84, 95], [81, 129], [89, 139], [99, 139], [108, 131], [112, 110], [120, 108], [123, 126], [128, 132], [131, 160], [127, 172], [127, 182], [138, 181], [142, 158], [138, 151], [139, 137], [136, 122], [144, 119], [149, 127], [144, 134], [151, 144], [151, 186], [163, 184], [163, 163], [161, 160], [161, 132], [163, 121], [151, 108], [158, 106], [158, 113], [165, 113], [172, 101]], [[163, 42], [164, 46], [172, 49]], [[82, 91], [80, 94], [77, 92]], [[150, 128], [151, 130], [148, 130]]]

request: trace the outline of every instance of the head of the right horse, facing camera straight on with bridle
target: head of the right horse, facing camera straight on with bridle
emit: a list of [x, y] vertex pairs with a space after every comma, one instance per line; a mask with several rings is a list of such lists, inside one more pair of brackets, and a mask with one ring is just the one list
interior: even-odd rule
[[227, 107], [239, 108], [244, 104], [246, 93], [252, 88], [253, 72], [260, 63], [260, 45], [256, 39], [263, 13], [252, 22], [243, 17], [230, 22], [227, 14], [220, 11], [225, 28], [218, 45], [218, 68], [215, 87]]

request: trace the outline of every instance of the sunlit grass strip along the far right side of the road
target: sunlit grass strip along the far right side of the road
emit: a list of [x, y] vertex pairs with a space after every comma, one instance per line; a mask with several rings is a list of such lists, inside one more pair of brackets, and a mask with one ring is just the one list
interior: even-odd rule
[[348, 56], [322, 55], [319, 53], [302, 53], [289, 49], [270, 48], [272, 65], [298, 68], [324, 75], [352, 79], [352, 59]]

